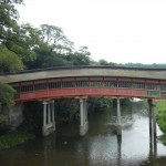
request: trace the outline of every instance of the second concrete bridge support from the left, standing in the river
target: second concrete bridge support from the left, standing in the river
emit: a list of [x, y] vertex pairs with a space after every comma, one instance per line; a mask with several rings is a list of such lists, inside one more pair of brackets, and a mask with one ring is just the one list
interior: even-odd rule
[[89, 131], [86, 100], [80, 98], [80, 135], [84, 136]]

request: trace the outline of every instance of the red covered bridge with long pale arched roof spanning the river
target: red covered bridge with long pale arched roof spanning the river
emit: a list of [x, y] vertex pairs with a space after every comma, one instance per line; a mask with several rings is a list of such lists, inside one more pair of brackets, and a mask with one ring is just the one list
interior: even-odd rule
[[[164, 69], [65, 66], [8, 73], [0, 75], [0, 82], [9, 83], [17, 90], [17, 103], [43, 101], [48, 105], [46, 102], [54, 98], [80, 98], [83, 103], [82, 116], [85, 112], [84, 100], [87, 97], [143, 97], [149, 98], [152, 103], [152, 98], [166, 96]], [[44, 110], [46, 112], [46, 106]], [[81, 121], [81, 126], [85, 118]]]

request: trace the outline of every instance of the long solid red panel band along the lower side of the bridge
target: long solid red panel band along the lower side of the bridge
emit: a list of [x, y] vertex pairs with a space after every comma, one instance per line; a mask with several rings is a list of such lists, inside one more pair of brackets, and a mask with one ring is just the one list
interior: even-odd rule
[[41, 90], [31, 92], [21, 92], [17, 102], [27, 102], [44, 98], [61, 98], [61, 97], [147, 97], [145, 90], [121, 89], [121, 87], [70, 87], [56, 90]]

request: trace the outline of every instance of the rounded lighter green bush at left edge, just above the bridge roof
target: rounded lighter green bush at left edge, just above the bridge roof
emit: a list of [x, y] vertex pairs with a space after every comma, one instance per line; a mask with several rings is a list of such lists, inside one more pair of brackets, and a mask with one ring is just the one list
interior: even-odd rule
[[23, 69], [21, 59], [6, 46], [0, 45], [0, 73]]

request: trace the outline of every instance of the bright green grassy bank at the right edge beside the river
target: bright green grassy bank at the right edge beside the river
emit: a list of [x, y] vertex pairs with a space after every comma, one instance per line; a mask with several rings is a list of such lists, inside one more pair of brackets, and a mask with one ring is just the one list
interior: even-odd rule
[[164, 145], [166, 145], [166, 101], [159, 101], [156, 103], [157, 110], [157, 123], [164, 135], [160, 137]]

